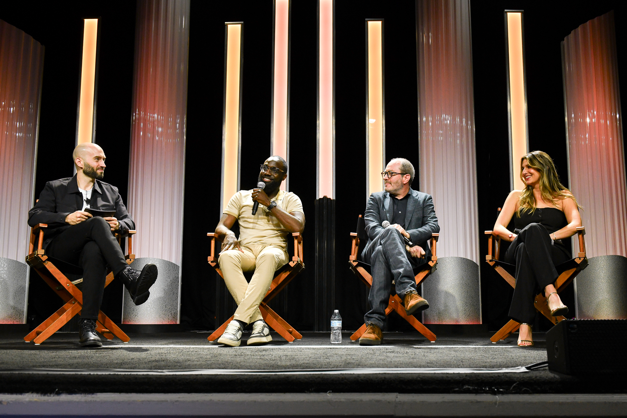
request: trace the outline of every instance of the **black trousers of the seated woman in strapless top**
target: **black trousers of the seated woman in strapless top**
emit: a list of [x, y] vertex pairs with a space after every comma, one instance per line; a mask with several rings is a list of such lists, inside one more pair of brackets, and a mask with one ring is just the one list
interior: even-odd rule
[[505, 254], [505, 263], [516, 264], [516, 287], [509, 316], [520, 323], [534, 323], [534, 297], [556, 281], [556, 265], [569, 260], [566, 246], [551, 245], [551, 236], [542, 224], [524, 227]]

